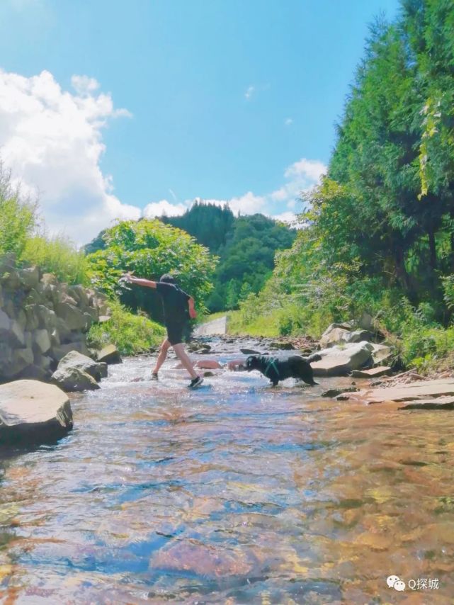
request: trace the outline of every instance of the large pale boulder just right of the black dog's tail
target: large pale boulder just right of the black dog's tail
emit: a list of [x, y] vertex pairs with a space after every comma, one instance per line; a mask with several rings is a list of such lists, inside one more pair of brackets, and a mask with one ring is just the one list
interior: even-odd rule
[[370, 342], [358, 342], [346, 346], [331, 346], [317, 353], [320, 361], [311, 363], [315, 376], [343, 376], [352, 370], [358, 370], [371, 363], [373, 345]]

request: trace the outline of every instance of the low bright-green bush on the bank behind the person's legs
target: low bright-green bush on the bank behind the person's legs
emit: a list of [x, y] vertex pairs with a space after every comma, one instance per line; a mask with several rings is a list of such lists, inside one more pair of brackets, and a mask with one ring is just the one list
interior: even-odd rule
[[109, 307], [110, 320], [93, 324], [89, 330], [88, 341], [94, 348], [113, 343], [121, 354], [135, 355], [158, 346], [164, 338], [163, 327], [143, 315], [133, 314], [118, 300], [110, 300]]

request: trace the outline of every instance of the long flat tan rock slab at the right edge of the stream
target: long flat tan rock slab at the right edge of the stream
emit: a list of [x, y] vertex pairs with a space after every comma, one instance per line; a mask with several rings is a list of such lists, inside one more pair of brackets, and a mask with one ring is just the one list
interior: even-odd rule
[[414, 401], [429, 397], [442, 397], [454, 395], [454, 378], [441, 378], [439, 380], [421, 380], [395, 387], [360, 390], [352, 393], [350, 399], [363, 400], [368, 403], [381, 403], [383, 401]]

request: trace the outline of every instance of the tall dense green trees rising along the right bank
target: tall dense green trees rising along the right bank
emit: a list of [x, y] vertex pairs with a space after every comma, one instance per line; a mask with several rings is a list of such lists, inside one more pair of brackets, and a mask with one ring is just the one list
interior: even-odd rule
[[401, 332], [450, 322], [453, 0], [404, 0], [395, 22], [370, 27], [327, 176], [305, 200], [307, 228], [280, 254], [263, 313], [314, 332], [361, 310]]

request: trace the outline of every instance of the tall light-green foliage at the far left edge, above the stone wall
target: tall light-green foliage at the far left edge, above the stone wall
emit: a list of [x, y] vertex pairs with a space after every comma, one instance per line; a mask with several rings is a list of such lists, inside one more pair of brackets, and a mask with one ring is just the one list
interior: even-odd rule
[[19, 258], [37, 222], [36, 203], [13, 187], [11, 173], [0, 163], [0, 256], [12, 252]]

